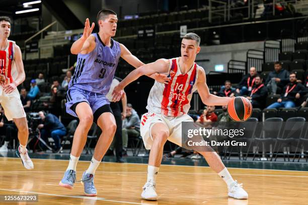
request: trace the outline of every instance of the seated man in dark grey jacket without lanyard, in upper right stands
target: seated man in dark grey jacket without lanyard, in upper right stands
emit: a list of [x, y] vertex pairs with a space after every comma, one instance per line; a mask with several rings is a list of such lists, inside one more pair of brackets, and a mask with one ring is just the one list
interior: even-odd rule
[[274, 63], [274, 71], [270, 72], [265, 81], [265, 85], [268, 87], [270, 94], [280, 93], [283, 87], [289, 83], [289, 72], [282, 69], [279, 61]]

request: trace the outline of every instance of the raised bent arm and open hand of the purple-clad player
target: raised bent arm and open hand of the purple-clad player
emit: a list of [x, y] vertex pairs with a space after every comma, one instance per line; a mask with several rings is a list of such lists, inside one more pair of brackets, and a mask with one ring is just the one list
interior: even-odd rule
[[85, 29], [83, 36], [76, 40], [70, 48], [71, 54], [77, 55], [79, 53], [81, 54], [87, 54], [94, 50], [95, 48], [95, 37], [91, 36], [91, 33], [94, 29], [94, 23], [92, 23], [92, 26], [90, 28], [90, 22], [89, 19], [85, 22]]

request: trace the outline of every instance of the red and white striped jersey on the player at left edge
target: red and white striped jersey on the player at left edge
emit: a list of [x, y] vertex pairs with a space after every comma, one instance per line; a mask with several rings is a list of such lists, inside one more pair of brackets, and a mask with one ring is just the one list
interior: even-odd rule
[[5, 50], [0, 50], [0, 74], [7, 78], [8, 83], [14, 81], [12, 76], [12, 69], [15, 67], [15, 42], [8, 40], [8, 47]]

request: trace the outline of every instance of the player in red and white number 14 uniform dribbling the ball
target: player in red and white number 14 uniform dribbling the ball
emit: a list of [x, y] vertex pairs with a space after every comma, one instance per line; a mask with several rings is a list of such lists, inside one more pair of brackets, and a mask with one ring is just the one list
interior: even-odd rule
[[[140, 133], [146, 149], [150, 149], [147, 181], [141, 197], [157, 200], [156, 177], [162, 162], [164, 144], [167, 140], [182, 146], [182, 122], [193, 122], [187, 115], [192, 93], [198, 90], [203, 104], [211, 106], [227, 105], [230, 97], [218, 97], [210, 94], [206, 84], [205, 71], [194, 61], [200, 52], [200, 37], [194, 33], [186, 34], [182, 39], [181, 57], [159, 59], [129, 73], [113, 90], [113, 99], [119, 100], [125, 86], [141, 75], [167, 73], [168, 85], [155, 81], [147, 99], [148, 113], [141, 118]], [[247, 199], [248, 193], [232, 178], [216, 152], [199, 152], [209, 166], [224, 180], [228, 196]]]

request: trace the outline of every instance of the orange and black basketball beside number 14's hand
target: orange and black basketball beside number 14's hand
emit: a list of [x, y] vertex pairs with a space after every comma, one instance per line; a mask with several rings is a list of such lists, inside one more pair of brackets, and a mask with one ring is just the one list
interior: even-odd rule
[[228, 114], [234, 121], [246, 121], [252, 114], [252, 105], [246, 97], [234, 97], [228, 103]]

